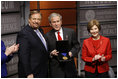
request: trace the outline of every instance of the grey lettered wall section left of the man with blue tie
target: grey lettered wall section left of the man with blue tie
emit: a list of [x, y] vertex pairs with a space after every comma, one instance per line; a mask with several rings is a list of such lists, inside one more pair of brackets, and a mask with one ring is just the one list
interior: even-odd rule
[[[11, 46], [16, 43], [17, 32], [21, 30], [21, 2], [2, 1], [1, 2], [1, 39], [5, 46]], [[14, 58], [7, 63], [8, 76], [16, 75], [18, 57], [14, 54]]]

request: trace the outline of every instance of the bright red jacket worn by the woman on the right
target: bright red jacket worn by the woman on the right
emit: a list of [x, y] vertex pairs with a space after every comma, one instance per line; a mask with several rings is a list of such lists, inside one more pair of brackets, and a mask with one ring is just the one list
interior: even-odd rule
[[109, 38], [100, 36], [100, 44], [98, 44], [96, 49], [92, 43], [92, 37], [84, 40], [82, 46], [82, 59], [86, 62], [84, 67], [85, 71], [95, 73], [97, 61], [92, 62], [92, 59], [97, 54], [104, 54], [105, 56], [105, 62], [102, 62], [101, 60], [98, 61], [98, 72], [107, 72], [109, 70], [108, 61], [112, 58], [112, 49]]

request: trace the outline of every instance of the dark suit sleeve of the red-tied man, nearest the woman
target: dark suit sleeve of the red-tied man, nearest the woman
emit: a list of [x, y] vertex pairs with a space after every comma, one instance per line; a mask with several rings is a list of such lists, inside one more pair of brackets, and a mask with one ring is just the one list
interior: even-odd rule
[[76, 34], [74, 30], [72, 31], [72, 49], [71, 52], [73, 56], [77, 56], [80, 51], [80, 43], [77, 41]]

